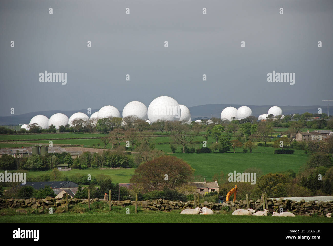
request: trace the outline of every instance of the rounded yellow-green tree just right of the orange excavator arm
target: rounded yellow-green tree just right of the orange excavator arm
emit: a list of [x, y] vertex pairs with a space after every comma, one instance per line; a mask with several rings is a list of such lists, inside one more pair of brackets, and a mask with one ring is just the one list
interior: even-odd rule
[[254, 194], [261, 196], [262, 193], [267, 194], [267, 197], [285, 197], [286, 177], [281, 173], [268, 173], [261, 176], [254, 189]]

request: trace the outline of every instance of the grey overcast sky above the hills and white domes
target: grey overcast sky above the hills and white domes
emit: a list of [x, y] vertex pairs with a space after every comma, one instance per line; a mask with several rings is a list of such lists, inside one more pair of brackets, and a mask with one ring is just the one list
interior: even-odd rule
[[[331, 0], [2, 0], [0, 20], [0, 116], [148, 107], [161, 95], [187, 107], [333, 99]], [[39, 82], [45, 70], [67, 84]], [[273, 70], [295, 84], [267, 82]]]

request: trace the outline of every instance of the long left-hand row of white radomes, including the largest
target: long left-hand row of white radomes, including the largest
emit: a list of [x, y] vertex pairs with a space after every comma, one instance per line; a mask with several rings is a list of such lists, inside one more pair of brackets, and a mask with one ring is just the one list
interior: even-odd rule
[[[178, 104], [176, 100], [168, 96], [160, 96], [154, 99], [148, 109], [142, 102], [129, 102], [123, 109], [123, 118], [130, 115], [146, 120], [148, 123], [154, 123], [162, 119], [167, 121], [191, 122], [189, 109], [184, 105]], [[42, 129], [48, 129], [49, 126], [54, 125], [58, 130], [60, 126], [67, 124], [73, 126], [72, 122], [76, 119], [98, 120], [108, 117], [121, 117], [121, 115], [116, 107], [108, 105], [102, 107], [98, 112], [93, 113], [90, 118], [81, 112], [73, 114], [69, 119], [62, 113], [54, 114], [50, 119], [44, 115], [36, 115], [30, 120], [29, 125], [37, 123]], [[29, 130], [28, 124], [23, 124], [22, 128]]]

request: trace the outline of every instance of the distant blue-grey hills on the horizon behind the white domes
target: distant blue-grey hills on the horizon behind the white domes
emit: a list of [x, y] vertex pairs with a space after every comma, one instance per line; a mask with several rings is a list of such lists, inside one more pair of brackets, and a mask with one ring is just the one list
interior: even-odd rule
[[[206, 104], [206, 105], [199, 105], [189, 107], [191, 113], [191, 119], [196, 118], [210, 118], [211, 115], [213, 117], [219, 118], [221, 116], [221, 112], [226, 107], [235, 107], [239, 108], [244, 105], [239, 104]], [[257, 105], [245, 105], [251, 108], [253, 115], [259, 116], [261, 114], [267, 114], [268, 109], [272, 107], [272, 105], [264, 105], [264, 106], [257, 106]], [[320, 106], [320, 105], [312, 105], [312, 106], [280, 106], [282, 109], [283, 114], [303, 114], [305, 112], [309, 113], [318, 113], [318, 108], [322, 108], [323, 113], [327, 113], [327, 106]], [[92, 109], [91, 113], [97, 112], [99, 109]], [[50, 110], [50, 111], [38, 111], [38, 112], [31, 112], [26, 114], [20, 115], [11, 115], [11, 116], [0, 116], [0, 125], [18, 125], [18, 124], [29, 124], [32, 117], [42, 114], [46, 117], [50, 118], [53, 114], [56, 113], [63, 113], [67, 115], [69, 118], [72, 114], [77, 112], [83, 112], [87, 114], [87, 109], [80, 109], [80, 110]], [[119, 111], [122, 115], [123, 111]], [[333, 106], [330, 106], [330, 112], [333, 114]], [[89, 117], [91, 115], [88, 115]]]

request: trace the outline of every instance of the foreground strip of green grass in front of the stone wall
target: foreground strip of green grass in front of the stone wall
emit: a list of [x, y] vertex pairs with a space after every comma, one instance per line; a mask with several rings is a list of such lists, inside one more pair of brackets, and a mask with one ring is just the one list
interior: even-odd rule
[[[93, 204], [92, 204], [93, 206]], [[332, 223], [333, 220], [326, 217], [272, 217], [272, 216], [234, 216], [231, 212], [214, 215], [183, 215], [181, 210], [170, 212], [141, 211], [134, 213], [134, 206], [129, 206], [130, 213], [126, 214], [126, 208], [113, 207], [112, 211], [107, 209], [88, 210], [84, 205], [83, 213], [56, 214], [18, 214], [15, 209], [0, 210], [0, 223]], [[70, 209], [71, 210], [71, 209]], [[78, 211], [78, 210], [77, 210]], [[82, 211], [82, 210], [81, 210]], [[4, 215], [6, 214], [6, 215]], [[8, 214], [8, 215], [7, 215]]]

